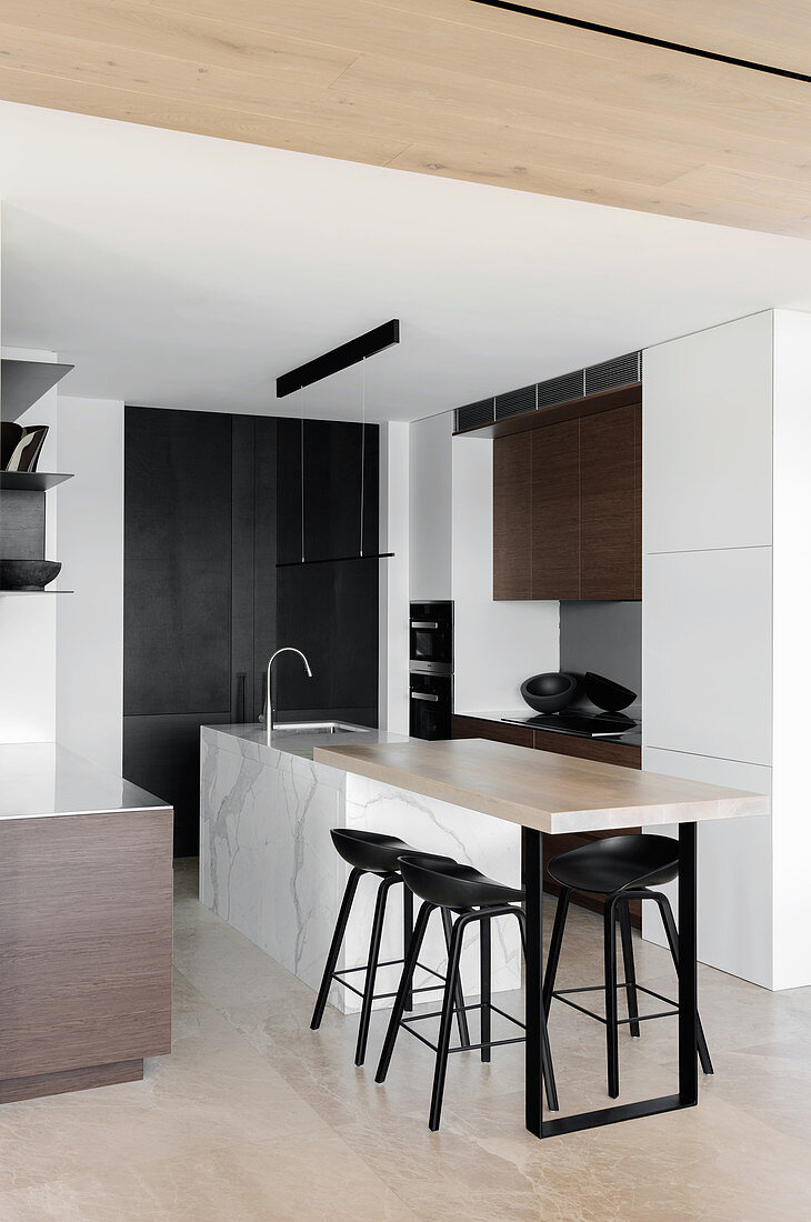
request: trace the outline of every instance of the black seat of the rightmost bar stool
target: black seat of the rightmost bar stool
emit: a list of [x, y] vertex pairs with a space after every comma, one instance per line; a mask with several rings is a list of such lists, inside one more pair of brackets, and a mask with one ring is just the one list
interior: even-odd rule
[[669, 836], [608, 836], [552, 858], [548, 873], [562, 887], [595, 895], [658, 887], [679, 873], [679, 844]]

